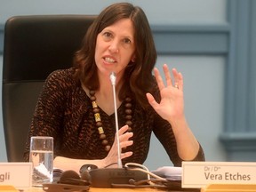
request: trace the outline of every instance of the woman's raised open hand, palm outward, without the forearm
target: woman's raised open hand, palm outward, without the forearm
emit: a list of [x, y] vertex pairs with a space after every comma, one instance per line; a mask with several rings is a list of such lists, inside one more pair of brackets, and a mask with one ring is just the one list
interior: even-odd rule
[[161, 101], [157, 103], [152, 94], [147, 93], [149, 104], [159, 116], [172, 122], [173, 119], [184, 117], [183, 77], [175, 68], [172, 76], [166, 64], [163, 66], [166, 85], [157, 68], [154, 68], [156, 82], [160, 90]]

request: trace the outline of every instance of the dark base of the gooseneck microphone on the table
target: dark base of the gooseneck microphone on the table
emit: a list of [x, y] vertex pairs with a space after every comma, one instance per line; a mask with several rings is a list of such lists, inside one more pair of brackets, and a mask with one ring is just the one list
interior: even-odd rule
[[148, 180], [146, 172], [128, 168], [93, 169], [89, 174], [93, 188], [112, 188], [115, 184], [132, 184], [131, 180]]

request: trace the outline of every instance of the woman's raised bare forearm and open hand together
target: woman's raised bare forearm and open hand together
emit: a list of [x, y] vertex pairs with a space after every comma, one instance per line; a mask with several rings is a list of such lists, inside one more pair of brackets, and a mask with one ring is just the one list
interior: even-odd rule
[[170, 124], [177, 141], [178, 154], [183, 160], [192, 160], [199, 151], [199, 143], [193, 132], [188, 127], [184, 115], [183, 77], [175, 68], [172, 68], [172, 76], [166, 64], [164, 64], [164, 76], [166, 85], [157, 68], [154, 69], [156, 83], [160, 90], [161, 100], [156, 102], [154, 97], [147, 93], [148, 102]]

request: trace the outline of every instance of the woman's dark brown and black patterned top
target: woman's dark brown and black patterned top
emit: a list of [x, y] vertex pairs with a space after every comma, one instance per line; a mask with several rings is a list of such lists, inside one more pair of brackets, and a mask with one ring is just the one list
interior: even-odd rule
[[[62, 69], [52, 72], [45, 81], [43, 92], [38, 99], [32, 118], [24, 158], [28, 161], [29, 140], [31, 136], [45, 135], [54, 138], [54, 156], [66, 156], [80, 159], [101, 159], [108, 155], [101, 144], [95, 125], [92, 102], [81, 84], [73, 78], [74, 69]], [[156, 92], [157, 91], [156, 87]], [[157, 96], [158, 95], [158, 96]], [[158, 94], [154, 95], [159, 99]], [[118, 124], [125, 124], [124, 103], [117, 109]], [[115, 139], [115, 114], [108, 116], [100, 109], [101, 122], [110, 146]], [[180, 166], [176, 140], [172, 126], [153, 108], [143, 110], [136, 100], [132, 100], [133, 145], [126, 148], [133, 155], [123, 160], [123, 164], [133, 162], [143, 164], [148, 156], [151, 132], [163, 144], [172, 163]], [[194, 159], [204, 161], [204, 151], [200, 150]]]

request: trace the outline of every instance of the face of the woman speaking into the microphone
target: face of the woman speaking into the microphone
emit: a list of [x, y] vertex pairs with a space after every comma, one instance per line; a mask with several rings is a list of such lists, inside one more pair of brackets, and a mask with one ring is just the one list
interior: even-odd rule
[[99, 76], [115, 72], [123, 76], [124, 68], [134, 60], [135, 43], [132, 20], [117, 20], [97, 36], [95, 62]]

